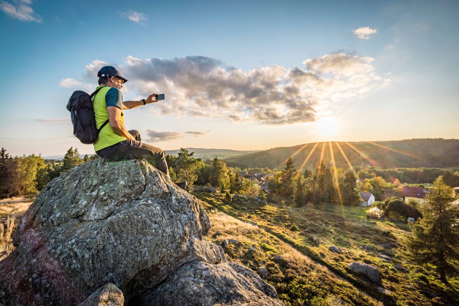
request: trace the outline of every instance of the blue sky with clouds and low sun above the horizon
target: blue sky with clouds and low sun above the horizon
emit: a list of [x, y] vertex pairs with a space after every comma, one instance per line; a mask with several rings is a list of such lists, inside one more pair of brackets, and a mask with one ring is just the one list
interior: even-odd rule
[[166, 93], [125, 119], [163, 150], [459, 138], [457, 1], [247, 2], [0, 1], [0, 146], [92, 153], [65, 106], [102, 62]]

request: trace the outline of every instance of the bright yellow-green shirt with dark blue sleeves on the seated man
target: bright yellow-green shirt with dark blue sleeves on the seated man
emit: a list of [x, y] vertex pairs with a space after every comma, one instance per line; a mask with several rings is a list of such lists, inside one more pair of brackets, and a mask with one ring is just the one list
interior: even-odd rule
[[[123, 94], [121, 90], [116, 87], [97, 86], [96, 89], [103, 87], [92, 98], [92, 106], [94, 107], [95, 125], [100, 128], [104, 122], [108, 120], [107, 106], [117, 106], [121, 109], [121, 116], [119, 121], [124, 124], [123, 114]], [[107, 123], [99, 132], [99, 137], [93, 143], [94, 150], [98, 151], [110, 145], [117, 144], [123, 141], [124, 137], [118, 135], [113, 131], [110, 123]]]

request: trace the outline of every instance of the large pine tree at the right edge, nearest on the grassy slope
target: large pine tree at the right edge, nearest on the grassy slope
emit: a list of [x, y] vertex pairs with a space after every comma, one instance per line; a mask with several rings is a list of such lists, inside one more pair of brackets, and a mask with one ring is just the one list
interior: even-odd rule
[[444, 284], [448, 284], [447, 276], [459, 273], [459, 208], [451, 204], [452, 195], [452, 189], [439, 176], [427, 202], [419, 206], [423, 216], [420, 224], [412, 224], [413, 234], [407, 237], [411, 260], [435, 267]]

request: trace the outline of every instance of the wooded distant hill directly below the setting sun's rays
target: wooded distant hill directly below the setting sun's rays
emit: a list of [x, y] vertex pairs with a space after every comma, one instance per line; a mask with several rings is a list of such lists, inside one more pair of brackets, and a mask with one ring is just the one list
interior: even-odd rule
[[[340, 147], [353, 166], [444, 168], [459, 165], [459, 139], [425, 138], [392, 141], [331, 142], [331, 152], [335, 158], [336, 167], [347, 169], [349, 166], [345, 157], [341, 154]], [[228, 158], [226, 163], [230, 167], [269, 167], [273, 169], [283, 167], [285, 160], [292, 156], [297, 168], [312, 169], [320, 161], [322, 151], [323, 161], [326, 165], [331, 165], [332, 155], [329, 142], [273, 148]]]

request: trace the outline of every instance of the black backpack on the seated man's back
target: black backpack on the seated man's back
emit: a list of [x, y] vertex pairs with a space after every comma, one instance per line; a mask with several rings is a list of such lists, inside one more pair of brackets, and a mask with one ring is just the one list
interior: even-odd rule
[[73, 135], [85, 145], [94, 143], [101, 129], [108, 123], [107, 120], [102, 124], [101, 128], [96, 128], [95, 125], [92, 97], [94, 97], [101, 88], [97, 89], [91, 95], [84, 91], [76, 90], [67, 103], [67, 111], [70, 111], [70, 117], [72, 117]]

